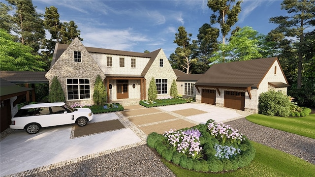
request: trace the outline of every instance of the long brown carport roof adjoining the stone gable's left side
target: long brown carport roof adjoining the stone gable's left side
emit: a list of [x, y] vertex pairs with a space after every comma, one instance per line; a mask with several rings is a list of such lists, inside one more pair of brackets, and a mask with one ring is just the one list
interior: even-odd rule
[[0, 71], [0, 78], [13, 84], [48, 83], [47, 71]]

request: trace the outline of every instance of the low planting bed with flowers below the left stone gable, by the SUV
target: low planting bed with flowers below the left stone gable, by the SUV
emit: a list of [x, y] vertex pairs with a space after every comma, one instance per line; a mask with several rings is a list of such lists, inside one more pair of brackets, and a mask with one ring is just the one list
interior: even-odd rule
[[72, 108], [90, 108], [93, 114], [100, 114], [100, 113], [109, 113], [109, 112], [116, 112], [116, 111], [123, 111], [124, 107], [119, 103], [111, 103], [106, 104], [104, 106], [96, 106], [96, 105], [80, 105], [74, 104], [71, 105]]

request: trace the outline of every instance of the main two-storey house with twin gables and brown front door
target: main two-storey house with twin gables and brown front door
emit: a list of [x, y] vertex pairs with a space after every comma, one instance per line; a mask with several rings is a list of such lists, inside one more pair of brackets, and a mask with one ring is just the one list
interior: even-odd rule
[[107, 89], [107, 102], [138, 104], [148, 97], [149, 84], [155, 78], [158, 98], [170, 96], [176, 75], [162, 49], [138, 53], [85, 47], [75, 38], [70, 45], [56, 44], [51, 68], [45, 75], [49, 85], [55, 76], [62, 85], [66, 102], [94, 104], [96, 76]]

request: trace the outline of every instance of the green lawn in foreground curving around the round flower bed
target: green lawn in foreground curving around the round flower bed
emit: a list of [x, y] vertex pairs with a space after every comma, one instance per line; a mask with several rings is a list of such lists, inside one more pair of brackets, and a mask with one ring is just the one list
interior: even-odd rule
[[177, 177], [314, 177], [315, 165], [294, 155], [252, 142], [256, 156], [251, 165], [234, 172], [200, 173], [182, 169], [162, 159]]

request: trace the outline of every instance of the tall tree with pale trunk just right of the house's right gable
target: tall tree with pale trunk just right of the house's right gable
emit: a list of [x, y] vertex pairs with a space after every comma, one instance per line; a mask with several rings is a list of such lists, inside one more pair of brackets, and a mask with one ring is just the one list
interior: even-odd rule
[[175, 49], [175, 55], [177, 56], [180, 66], [186, 69], [186, 73], [189, 74], [189, 67], [192, 60], [190, 59], [192, 55], [191, 47], [192, 44], [190, 43], [190, 37], [192, 36], [191, 33], [187, 33], [185, 27], [181, 26], [178, 28], [178, 33], [175, 34], [174, 43], [178, 45]]

